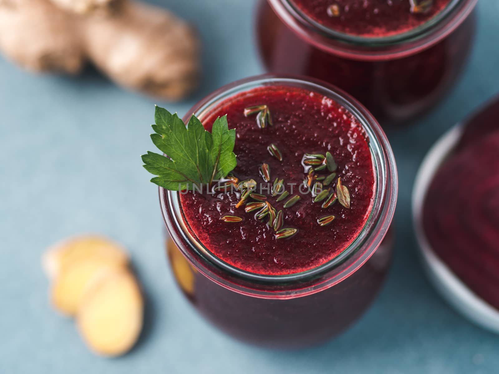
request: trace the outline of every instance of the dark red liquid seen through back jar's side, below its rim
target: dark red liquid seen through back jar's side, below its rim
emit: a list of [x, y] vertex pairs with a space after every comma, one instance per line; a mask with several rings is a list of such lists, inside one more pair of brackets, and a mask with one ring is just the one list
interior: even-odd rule
[[[397, 19], [386, 26], [396, 29]], [[399, 26], [407, 25], [407, 19], [400, 22]], [[352, 19], [350, 23], [352, 29], [364, 27], [360, 21]], [[386, 125], [413, 119], [443, 98], [465, 65], [475, 26], [472, 13], [444, 39], [402, 58], [373, 60], [360, 52], [358, 58], [346, 58], [302, 39], [277, 17], [267, 1], [261, 0], [257, 40], [268, 71], [303, 74], [332, 83], [358, 99]]]

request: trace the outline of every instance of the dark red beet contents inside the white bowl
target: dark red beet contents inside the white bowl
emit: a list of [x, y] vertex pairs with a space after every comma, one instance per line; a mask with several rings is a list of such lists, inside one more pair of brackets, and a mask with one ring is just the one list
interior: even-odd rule
[[498, 108], [497, 101], [467, 124], [456, 153], [434, 177], [423, 211], [425, 233], [434, 252], [497, 309], [499, 125], [493, 114]]

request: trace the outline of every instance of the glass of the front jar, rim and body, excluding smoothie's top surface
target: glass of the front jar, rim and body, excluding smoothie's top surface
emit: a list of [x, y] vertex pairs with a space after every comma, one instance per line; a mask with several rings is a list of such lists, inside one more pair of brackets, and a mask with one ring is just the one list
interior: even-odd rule
[[[188, 113], [201, 121], [241, 92], [279, 85], [332, 98], [363, 125], [369, 140], [376, 192], [359, 236], [333, 260], [289, 275], [260, 275], [214, 256], [184, 222], [179, 192], [159, 189], [170, 233], [167, 252], [179, 286], [211, 322], [242, 340], [280, 348], [309, 346], [344, 330], [364, 312], [380, 289], [392, 257], [388, 232], [397, 199], [397, 171], [385, 134], [371, 114], [342, 91], [314, 80], [264, 75], [232, 83]], [[188, 120], [188, 116], [184, 121]]]

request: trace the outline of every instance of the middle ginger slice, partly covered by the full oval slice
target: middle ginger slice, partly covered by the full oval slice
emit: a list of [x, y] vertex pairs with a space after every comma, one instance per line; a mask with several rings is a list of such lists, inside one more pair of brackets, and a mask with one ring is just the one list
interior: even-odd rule
[[64, 268], [52, 284], [53, 306], [62, 314], [74, 316], [92, 282], [113, 268], [122, 268], [122, 266], [112, 262], [101, 262], [98, 259], [84, 259]]

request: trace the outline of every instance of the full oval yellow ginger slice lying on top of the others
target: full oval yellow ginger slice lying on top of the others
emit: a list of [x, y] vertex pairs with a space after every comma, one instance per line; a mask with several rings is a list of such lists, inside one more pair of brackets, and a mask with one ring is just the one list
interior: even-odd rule
[[104, 356], [128, 352], [142, 330], [143, 299], [132, 274], [105, 272], [85, 292], [76, 322], [89, 348]]

